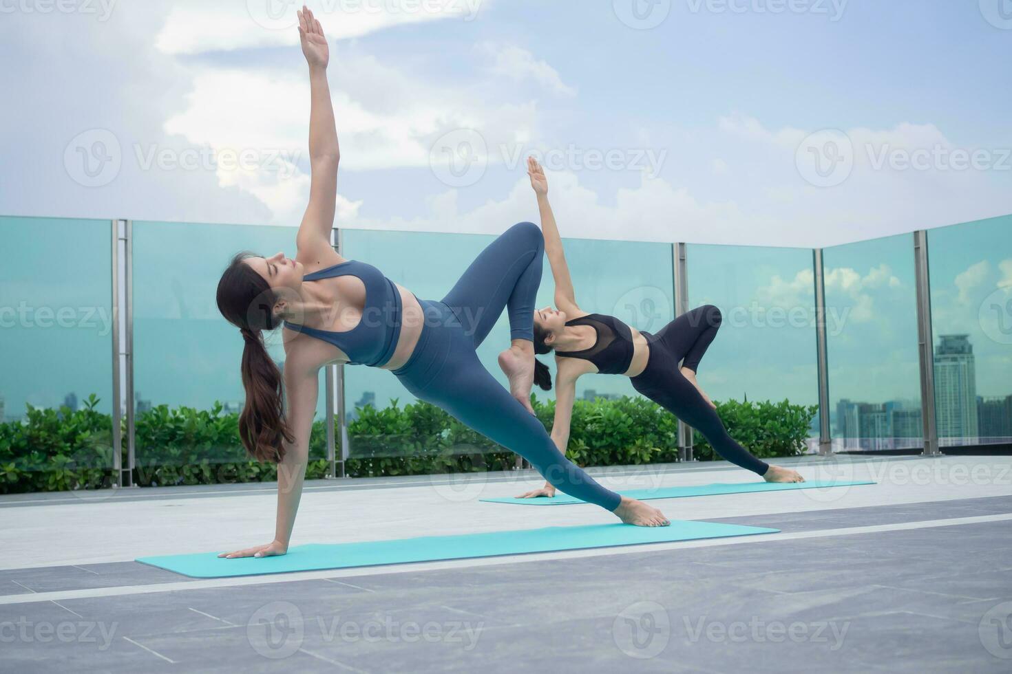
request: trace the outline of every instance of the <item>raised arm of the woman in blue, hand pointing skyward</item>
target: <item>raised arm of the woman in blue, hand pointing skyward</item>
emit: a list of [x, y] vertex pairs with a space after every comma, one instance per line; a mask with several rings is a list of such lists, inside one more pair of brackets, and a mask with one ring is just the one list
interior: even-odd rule
[[337, 202], [337, 164], [341, 153], [334, 125], [334, 106], [327, 85], [330, 47], [313, 12], [299, 12], [299, 37], [310, 67], [310, 202], [299, 227], [299, 250], [314, 261], [333, 255], [330, 230]]

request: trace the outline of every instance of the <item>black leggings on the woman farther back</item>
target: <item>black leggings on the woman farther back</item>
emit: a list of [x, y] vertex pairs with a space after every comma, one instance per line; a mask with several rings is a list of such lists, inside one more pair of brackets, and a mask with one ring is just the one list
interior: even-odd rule
[[632, 388], [701, 432], [716, 453], [731, 463], [765, 475], [769, 465], [728, 435], [716, 410], [678, 368], [678, 362], [685, 359], [682, 366], [697, 371], [702, 355], [721, 327], [721, 318], [720, 309], [704, 304], [678, 316], [657, 334], [643, 332], [650, 343], [650, 356], [647, 368], [631, 378]]

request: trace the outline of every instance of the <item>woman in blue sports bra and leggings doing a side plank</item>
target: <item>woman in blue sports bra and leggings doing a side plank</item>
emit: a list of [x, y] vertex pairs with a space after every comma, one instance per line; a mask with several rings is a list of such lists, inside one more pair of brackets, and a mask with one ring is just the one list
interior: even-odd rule
[[[240, 253], [218, 286], [219, 310], [246, 342], [246, 404], [239, 419], [243, 445], [254, 458], [278, 464], [274, 540], [220, 557], [287, 552], [306, 475], [320, 368], [330, 363], [390, 370], [415, 396], [520, 454], [562, 491], [607, 508], [626, 523], [670, 523], [657, 508], [608, 491], [566, 459], [530, 410], [534, 296], [544, 254], [536, 225], [510, 227], [438, 302], [417, 299], [375, 267], [345, 260], [331, 248], [339, 150], [327, 86], [329, 51], [320, 22], [305, 6], [299, 23], [310, 68], [312, 179], [296, 235], [297, 259], [282, 253], [270, 258]], [[512, 345], [500, 354], [499, 363], [513, 395], [475, 353], [504, 308]], [[262, 335], [282, 323], [283, 386]]]

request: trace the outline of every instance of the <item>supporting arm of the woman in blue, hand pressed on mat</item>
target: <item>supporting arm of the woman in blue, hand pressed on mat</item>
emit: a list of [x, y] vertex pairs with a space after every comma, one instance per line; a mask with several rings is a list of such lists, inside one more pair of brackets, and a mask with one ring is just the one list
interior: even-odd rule
[[296, 524], [296, 513], [303, 495], [303, 481], [306, 479], [306, 465], [310, 455], [310, 434], [313, 431], [313, 416], [316, 412], [320, 388], [319, 367], [301, 367], [296, 357], [284, 364], [284, 389], [287, 398], [287, 419], [294, 443], [284, 443], [284, 458], [277, 465], [277, 517], [274, 523], [274, 540], [265, 546], [255, 546], [232, 553], [222, 553], [219, 557], [273, 557], [288, 551], [291, 529]]

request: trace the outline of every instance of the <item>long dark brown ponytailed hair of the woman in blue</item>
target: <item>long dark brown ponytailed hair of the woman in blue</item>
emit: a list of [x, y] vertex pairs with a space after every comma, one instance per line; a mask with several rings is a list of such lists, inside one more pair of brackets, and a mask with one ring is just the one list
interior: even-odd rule
[[218, 282], [218, 310], [237, 326], [243, 348], [242, 377], [246, 404], [239, 414], [239, 438], [257, 461], [280, 463], [284, 442], [294, 437], [284, 418], [284, 388], [281, 371], [270, 359], [263, 330], [272, 330], [280, 319], [272, 311], [278, 296], [267, 281], [244, 263], [259, 257], [248, 251], [236, 254]]

